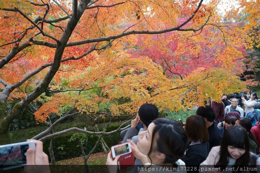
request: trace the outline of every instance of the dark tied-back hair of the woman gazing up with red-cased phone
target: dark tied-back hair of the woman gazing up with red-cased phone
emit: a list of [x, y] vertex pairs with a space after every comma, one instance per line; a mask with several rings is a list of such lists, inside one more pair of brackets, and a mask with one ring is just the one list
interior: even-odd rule
[[[152, 133], [151, 148], [147, 154], [152, 153], [153, 144], [156, 150], [165, 154], [164, 163], [175, 165], [175, 162], [183, 157], [187, 144], [187, 133], [175, 120], [169, 118], [157, 118], [152, 121], [155, 124]], [[155, 142], [154, 142], [155, 139]]]

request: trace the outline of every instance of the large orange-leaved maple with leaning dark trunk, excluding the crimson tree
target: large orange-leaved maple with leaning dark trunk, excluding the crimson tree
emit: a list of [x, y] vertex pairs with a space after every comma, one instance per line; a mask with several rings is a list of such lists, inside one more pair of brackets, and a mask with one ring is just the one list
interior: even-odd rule
[[[217, 1], [202, 1], [1, 1], [0, 105], [8, 99], [17, 102], [7, 116], [0, 113], [1, 143], [9, 141], [12, 120], [55, 88], [51, 81], [63, 82], [63, 88], [72, 91], [55, 94], [35, 113], [39, 121], [58, 113], [64, 104], [80, 113], [100, 113], [99, 105], [109, 103], [114, 116], [133, 113], [146, 101], [161, 109], [185, 109], [202, 104], [203, 97], [218, 98], [243, 88], [235, 74], [221, 68], [194, 68], [184, 80], [167, 78], [151, 59], [131, 58], [123, 51], [138, 39], [136, 34], [201, 31], [217, 14]], [[90, 89], [102, 94], [76, 94]], [[120, 98], [130, 101], [117, 104]]]

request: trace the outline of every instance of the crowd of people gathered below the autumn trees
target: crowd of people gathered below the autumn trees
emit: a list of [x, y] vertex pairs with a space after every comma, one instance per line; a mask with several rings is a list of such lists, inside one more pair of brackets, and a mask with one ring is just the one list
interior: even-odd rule
[[[184, 126], [158, 118], [155, 105], [141, 105], [131, 127], [120, 134], [120, 143], [130, 142], [135, 157], [130, 172], [259, 172], [260, 103], [256, 93], [248, 100], [246, 97], [224, 94], [222, 102], [212, 100], [210, 105], [199, 106]], [[36, 152], [29, 151], [26, 156], [30, 164], [37, 164], [36, 155], [47, 164], [39, 142]], [[118, 171], [119, 158], [108, 153], [110, 173]]]

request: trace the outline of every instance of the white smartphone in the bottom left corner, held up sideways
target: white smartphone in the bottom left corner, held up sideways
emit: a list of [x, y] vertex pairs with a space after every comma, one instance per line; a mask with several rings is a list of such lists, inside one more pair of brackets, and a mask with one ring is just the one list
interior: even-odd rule
[[0, 170], [7, 170], [26, 165], [26, 151], [35, 151], [35, 142], [20, 142], [0, 146]]

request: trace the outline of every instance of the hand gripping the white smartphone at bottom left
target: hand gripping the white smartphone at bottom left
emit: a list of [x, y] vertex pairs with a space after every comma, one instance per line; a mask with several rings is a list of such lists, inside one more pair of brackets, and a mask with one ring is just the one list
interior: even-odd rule
[[34, 139], [27, 139], [27, 141], [35, 142], [35, 152], [31, 148], [26, 151], [27, 166], [24, 172], [50, 173], [48, 155], [43, 152], [42, 142]]

